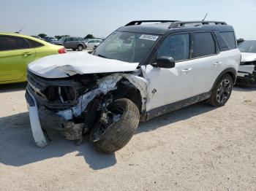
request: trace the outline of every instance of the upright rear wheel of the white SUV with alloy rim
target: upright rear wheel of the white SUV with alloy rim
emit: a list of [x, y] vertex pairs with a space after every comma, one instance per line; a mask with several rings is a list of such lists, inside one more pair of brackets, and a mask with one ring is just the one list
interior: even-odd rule
[[224, 106], [230, 98], [232, 90], [233, 79], [230, 74], [224, 74], [214, 86], [207, 103], [211, 104], [211, 106]]

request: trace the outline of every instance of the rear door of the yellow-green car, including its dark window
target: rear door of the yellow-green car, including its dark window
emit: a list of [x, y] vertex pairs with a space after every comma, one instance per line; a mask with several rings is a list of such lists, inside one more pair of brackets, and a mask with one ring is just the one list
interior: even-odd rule
[[22, 78], [34, 57], [34, 48], [22, 37], [0, 35], [0, 81]]

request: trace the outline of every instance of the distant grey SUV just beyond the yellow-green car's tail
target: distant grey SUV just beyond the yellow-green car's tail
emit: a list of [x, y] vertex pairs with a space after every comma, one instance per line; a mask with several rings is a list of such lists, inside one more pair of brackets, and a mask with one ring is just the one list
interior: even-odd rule
[[78, 51], [82, 51], [83, 49], [87, 48], [86, 43], [81, 37], [64, 36], [58, 41], [54, 42], [54, 44], [59, 44], [64, 46], [67, 49], [78, 50]]

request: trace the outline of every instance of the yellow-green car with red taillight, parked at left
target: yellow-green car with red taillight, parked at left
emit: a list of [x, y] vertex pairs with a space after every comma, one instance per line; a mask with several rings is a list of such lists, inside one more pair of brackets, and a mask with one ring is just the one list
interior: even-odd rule
[[32, 36], [0, 33], [0, 84], [26, 82], [31, 61], [65, 52], [62, 46]]

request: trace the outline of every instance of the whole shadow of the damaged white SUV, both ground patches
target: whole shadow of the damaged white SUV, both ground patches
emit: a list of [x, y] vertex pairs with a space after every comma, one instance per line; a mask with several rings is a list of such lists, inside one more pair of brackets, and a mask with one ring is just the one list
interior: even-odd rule
[[[212, 109], [214, 107], [207, 104], [194, 104], [176, 112], [156, 117], [148, 122], [140, 122], [137, 133], [148, 132], [173, 122], [187, 120]], [[108, 168], [116, 164], [115, 154], [102, 155], [93, 149], [89, 141], [83, 141], [80, 146], [75, 146], [73, 141], [64, 140], [55, 130], [48, 130], [48, 135], [53, 141], [48, 141], [48, 147], [41, 149], [34, 144], [28, 112], [1, 117], [0, 163], [22, 166], [52, 157], [62, 157], [71, 152], [78, 152], [75, 156], [83, 156], [86, 163], [94, 170]]]

